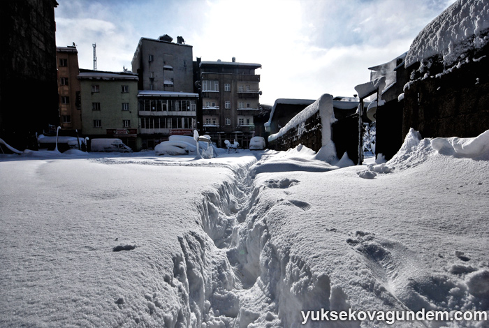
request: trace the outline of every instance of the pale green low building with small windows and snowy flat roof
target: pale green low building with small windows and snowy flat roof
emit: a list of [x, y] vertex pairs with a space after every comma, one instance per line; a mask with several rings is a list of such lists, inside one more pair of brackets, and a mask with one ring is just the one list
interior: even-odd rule
[[138, 75], [80, 69], [78, 80], [83, 135], [119, 138], [133, 150], [140, 150]]

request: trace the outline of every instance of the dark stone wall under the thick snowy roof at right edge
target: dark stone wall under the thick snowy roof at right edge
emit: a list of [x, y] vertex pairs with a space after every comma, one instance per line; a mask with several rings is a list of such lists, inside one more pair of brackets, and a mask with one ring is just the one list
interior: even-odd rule
[[476, 137], [489, 130], [489, 47], [469, 58], [451, 73], [416, 80], [404, 91], [403, 137], [409, 128], [422, 137]]

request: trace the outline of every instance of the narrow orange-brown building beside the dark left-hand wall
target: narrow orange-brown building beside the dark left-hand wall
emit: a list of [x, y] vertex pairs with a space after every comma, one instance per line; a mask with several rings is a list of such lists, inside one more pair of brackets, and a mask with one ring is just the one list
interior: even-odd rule
[[82, 111], [80, 103], [80, 73], [78, 50], [75, 45], [56, 48], [58, 64], [59, 126], [63, 130], [82, 131]]

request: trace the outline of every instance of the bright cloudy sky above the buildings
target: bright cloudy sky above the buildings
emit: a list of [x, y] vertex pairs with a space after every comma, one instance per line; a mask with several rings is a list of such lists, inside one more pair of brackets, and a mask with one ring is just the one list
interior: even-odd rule
[[80, 68], [131, 69], [141, 37], [183, 36], [194, 60], [258, 63], [261, 103], [352, 96], [454, 0], [58, 0], [57, 45]]

